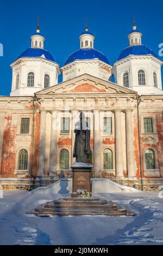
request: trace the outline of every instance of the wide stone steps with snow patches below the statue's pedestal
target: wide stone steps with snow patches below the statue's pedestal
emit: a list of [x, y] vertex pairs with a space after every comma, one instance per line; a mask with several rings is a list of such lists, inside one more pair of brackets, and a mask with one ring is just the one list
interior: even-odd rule
[[101, 198], [61, 198], [26, 212], [38, 217], [49, 216], [134, 216], [126, 207]]

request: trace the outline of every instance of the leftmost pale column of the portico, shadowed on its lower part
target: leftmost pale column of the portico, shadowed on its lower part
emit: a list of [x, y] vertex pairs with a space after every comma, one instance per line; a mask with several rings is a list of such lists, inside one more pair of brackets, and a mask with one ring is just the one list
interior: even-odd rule
[[46, 144], [45, 140], [46, 140], [46, 110], [41, 110], [38, 176], [45, 175], [45, 144]]

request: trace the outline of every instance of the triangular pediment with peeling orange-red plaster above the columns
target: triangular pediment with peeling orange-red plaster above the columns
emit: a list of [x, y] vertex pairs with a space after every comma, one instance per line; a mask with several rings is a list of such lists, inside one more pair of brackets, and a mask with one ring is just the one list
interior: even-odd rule
[[126, 94], [136, 92], [119, 86], [113, 82], [106, 81], [103, 79], [96, 78], [95, 76], [83, 74], [77, 76], [68, 81], [61, 82], [58, 85], [46, 88], [39, 92], [36, 92], [36, 95], [41, 94], [60, 94], [60, 93], [111, 93], [111, 94]]

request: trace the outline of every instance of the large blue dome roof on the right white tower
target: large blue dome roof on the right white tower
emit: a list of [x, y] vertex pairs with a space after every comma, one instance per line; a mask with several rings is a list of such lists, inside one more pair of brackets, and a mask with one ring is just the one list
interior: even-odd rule
[[149, 49], [146, 45], [141, 44], [141, 45], [131, 45], [126, 49], [124, 49], [121, 52], [120, 56], [118, 57], [118, 61], [130, 55], [152, 55], [158, 58], [158, 56], [155, 54], [154, 51]]

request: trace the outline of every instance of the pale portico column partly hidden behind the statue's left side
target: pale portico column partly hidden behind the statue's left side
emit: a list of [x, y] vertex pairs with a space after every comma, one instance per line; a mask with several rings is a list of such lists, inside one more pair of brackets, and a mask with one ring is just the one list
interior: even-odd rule
[[74, 141], [75, 141], [75, 133], [74, 128], [76, 126], [76, 123], [79, 118], [79, 111], [78, 110], [72, 110], [72, 128], [71, 128], [71, 164], [73, 164], [76, 161], [76, 158], [73, 157], [73, 148], [74, 148]]

